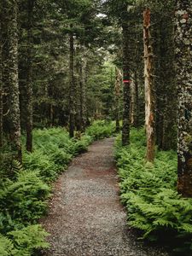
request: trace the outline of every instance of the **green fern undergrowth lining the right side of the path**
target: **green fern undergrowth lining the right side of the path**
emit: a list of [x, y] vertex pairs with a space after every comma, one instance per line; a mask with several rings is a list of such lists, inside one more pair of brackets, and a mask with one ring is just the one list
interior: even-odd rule
[[142, 230], [143, 238], [155, 241], [164, 237], [175, 253], [189, 255], [192, 199], [177, 193], [177, 154], [159, 151], [154, 164], [146, 162], [145, 140], [143, 129], [133, 129], [130, 146], [121, 147], [119, 139], [116, 143], [121, 200], [127, 208], [128, 224]]

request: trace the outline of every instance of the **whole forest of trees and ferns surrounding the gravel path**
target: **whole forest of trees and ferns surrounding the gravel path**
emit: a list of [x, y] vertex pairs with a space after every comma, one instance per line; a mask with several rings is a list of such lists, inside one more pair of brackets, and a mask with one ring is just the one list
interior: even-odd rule
[[192, 0], [0, 3], [0, 255], [140, 255], [44, 254], [55, 183], [106, 138], [125, 225], [192, 255]]

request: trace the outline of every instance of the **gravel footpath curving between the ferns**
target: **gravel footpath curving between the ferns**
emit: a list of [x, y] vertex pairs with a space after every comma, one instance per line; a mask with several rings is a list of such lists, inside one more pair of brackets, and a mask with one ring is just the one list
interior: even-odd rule
[[119, 202], [113, 138], [93, 143], [55, 183], [49, 215], [41, 223], [50, 233], [46, 256], [167, 256], [144, 245], [126, 224]]

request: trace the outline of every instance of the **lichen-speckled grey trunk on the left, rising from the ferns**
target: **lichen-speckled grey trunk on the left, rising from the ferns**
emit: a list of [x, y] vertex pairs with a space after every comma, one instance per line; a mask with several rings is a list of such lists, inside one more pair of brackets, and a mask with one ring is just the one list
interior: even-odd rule
[[10, 139], [14, 158], [21, 162], [20, 144], [20, 101], [18, 84], [18, 31], [17, 31], [17, 1], [8, 3], [9, 25], [8, 25], [8, 49], [7, 56], [8, 83], [9, 83], [9, 123]]

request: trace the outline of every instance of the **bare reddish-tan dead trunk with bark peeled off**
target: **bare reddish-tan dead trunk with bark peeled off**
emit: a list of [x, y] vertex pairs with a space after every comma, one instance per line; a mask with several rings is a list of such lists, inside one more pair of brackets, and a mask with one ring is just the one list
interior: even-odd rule
[[150, 37], [150, 9], [143, 12], [144, 79], [145, 79], [145, 125], [147, 133], [147, 160], [154, 161], [154, 55]]

